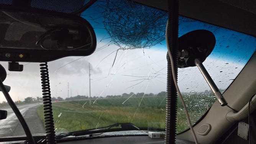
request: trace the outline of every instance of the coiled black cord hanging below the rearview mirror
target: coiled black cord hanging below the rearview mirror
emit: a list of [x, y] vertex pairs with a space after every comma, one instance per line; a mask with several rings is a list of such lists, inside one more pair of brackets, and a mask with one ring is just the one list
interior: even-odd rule
[[54, 131], [53, 109], [51, 102], [51, 89], [47, 62], [40, 64], [41, 86], [43, 92], [44, 122], [47, 144], [56, 144]]

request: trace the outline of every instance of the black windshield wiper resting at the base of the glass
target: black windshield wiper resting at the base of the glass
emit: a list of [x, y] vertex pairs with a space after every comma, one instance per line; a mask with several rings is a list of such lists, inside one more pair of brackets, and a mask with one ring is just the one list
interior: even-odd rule
[[[120, 126], [121, 128], [113, 128], [118, 126]], [[74, 131], [66, 134], [61, 134], [61, 137], [57, 136], [57, 138], [62, 138], [67, 136], [84, 136], [87, 134], [107, 133], [107, 132], [113, 132], [113, 131], [131, 131], [131, 130], [140, 130], [140, 129], [132, 123], [115, 123], [115, 124], [97, 128], [97, 129], [85, 129], [81, 131]]]

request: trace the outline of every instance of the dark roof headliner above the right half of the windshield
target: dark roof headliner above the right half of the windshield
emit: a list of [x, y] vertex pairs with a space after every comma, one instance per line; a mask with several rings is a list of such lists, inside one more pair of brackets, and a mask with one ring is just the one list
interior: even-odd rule
[[[167, 0], [133, 0], [167, 11]], [[256, 37], [255, 0], [179, 0], [179, 15]]]

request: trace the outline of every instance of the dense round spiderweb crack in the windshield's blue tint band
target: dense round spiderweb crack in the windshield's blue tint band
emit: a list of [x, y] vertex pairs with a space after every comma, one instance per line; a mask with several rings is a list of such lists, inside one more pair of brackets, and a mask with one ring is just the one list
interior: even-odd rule
[[121, 49], [150, 48], [165, 39], [165, 12], [121, 0], [103, 7], [105, 29]]

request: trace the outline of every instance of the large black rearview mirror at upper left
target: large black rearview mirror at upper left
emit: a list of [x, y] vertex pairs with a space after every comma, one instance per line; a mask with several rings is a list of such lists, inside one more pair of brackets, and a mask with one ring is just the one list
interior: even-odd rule
[[88, 56], [96, 36], [77, 15], [0, 10], [0, 61], [48, 62], [67, 56]]

